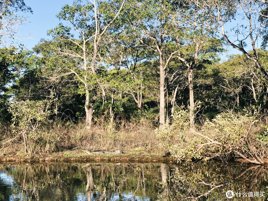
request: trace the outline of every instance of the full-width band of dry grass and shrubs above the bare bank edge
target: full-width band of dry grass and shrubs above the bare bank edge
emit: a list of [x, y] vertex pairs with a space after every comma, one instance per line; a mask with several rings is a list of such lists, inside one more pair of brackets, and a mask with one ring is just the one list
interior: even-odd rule
[[[243, 158], [262, 164], [268, 156], [268, 126], [266, 113], [260, 107], [240, 112], [222, 111], [214, 119], [206, 119], [193, 127], [187, 109], [175, 111], [172, 123], [155, 129], [152, 120], [141, 114], [137, 119], [109, 121], [105, 116], [94, 119], [91, 130], [84, 121], [48, 120], [46, 111], [31, 113], [24, 105], [13, 108], [13, 124], [1, 127], [0, 156], [52, 153], [74, 149], [136, 150], [148, 153], [171, 153], [177, 162], [193, 160]], [[47, 103], [39, 103], [42, 108]], [[11, 107], [12, 108], [12, 107]], [[29, 114], [24, 114], [24, 111]], [[20, 122], [22, 119], [23, 122]], [[199, 120], [200, 121], [200, 120]]]

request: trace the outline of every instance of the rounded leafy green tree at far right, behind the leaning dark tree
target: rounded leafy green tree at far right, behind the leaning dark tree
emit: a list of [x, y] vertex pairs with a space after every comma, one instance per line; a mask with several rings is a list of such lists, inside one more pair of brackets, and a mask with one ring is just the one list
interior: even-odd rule
[[[253, 52], [249, 52], [251, 55]], [[267, 51], [256, 50], [261, 65], [267, 65]], [[261, 71], [255, 67], [254, 61], [244, 54], [231, 55], [230, 59], [222, 64], [212, 67], [212, 71], [218, 71], [214, 77], [214, 86], [221, 87], [222, 101], [236, 102], [237, 107], [247, 107], [252, 104], [264, 103], [263, 85], [264, 78]], [[264, 101], [263, 101], [264, 100]]]

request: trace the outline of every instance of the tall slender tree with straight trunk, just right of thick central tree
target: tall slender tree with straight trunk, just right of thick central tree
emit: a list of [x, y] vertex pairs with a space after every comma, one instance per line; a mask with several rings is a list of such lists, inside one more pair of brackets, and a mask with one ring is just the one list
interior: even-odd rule
[[215, 59], [217, 52], [222, 51], [222, 41], [213, 36], [211, 27], [205, 26], [208, 20], [203, 17], [203, 13], [191, 5], [190, 2], [184, 1], [180, 2], [179, 6], [173, 6], [171, 35], [177, 43], [177, 58], [188, 68], [189, 117], [193, 126], [195, 107], [193, 70], [203, 59]]

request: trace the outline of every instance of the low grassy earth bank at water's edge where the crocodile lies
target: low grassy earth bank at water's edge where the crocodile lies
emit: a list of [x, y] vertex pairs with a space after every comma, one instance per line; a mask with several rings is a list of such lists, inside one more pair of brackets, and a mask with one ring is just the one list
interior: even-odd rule
[[145, 151], [126, 151], [124, 154], [94, 154], [88, 155], [81, 150], [65, 151], [53, 154], [22, 154], [7, 155], [0, 162], [159, 162], [172, 163], [173, 158], [164, 154], [151, 154]]

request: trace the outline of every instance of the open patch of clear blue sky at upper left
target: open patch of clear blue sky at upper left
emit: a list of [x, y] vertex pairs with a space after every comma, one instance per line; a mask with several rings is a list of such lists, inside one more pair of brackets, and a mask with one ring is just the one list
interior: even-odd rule
[[[51, 39], [47, 36], [47, 30], [55, 28], [59, 20], [55, 17], [64, 4], [72, 4], [72, 0], [24, 0], [31, 7], [33, 14], [26, 13], [28, 23], [21, 27], [20, 35], [28, 37], [19, 43], [24, 44], [27, 49], [32, 49], [41, 38]], [[24, 13], [23, 13], [24, 14]], [[25, 14], [24, 14], [25, 15]], [[29, 38], [31, 36], [31, 38]]]

